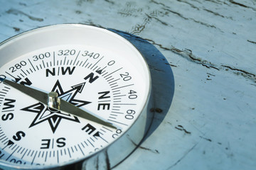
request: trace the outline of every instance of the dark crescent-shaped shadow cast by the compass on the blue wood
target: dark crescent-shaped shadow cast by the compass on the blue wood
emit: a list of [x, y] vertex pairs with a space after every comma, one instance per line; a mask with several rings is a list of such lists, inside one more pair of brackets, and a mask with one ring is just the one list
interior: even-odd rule
[[154, 102], [153, 107], [151, 106], [152, 108], [149, 110], [151, 114], [154, 114], [154, 119], [149, 122], [151, 125], [144, 137], [146, 140], [159, 127], [171, 107], [171, 101], [174, 97], [174, 74], [164, 55], [149, 41], [119, 30], [108, 30], [129, 40], [137, 47], [149, 65]]

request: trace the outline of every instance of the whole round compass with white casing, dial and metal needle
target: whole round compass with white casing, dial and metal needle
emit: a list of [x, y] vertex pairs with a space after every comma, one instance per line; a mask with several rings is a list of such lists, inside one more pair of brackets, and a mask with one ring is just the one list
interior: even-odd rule
[[0, 44], [0, 169], [112, 169], [151, 123], [141, 53], [104, 28], [46, 26]]

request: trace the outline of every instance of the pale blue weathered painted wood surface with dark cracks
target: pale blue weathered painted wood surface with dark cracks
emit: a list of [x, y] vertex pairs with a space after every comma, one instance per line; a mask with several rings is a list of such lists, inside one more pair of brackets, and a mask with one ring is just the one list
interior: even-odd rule
[[166, 57], [150, 65], [157, 128], [115, 169], [256, 169], [255, 0], [0, 0], [0, 41], [57, 23], [132, 33]]

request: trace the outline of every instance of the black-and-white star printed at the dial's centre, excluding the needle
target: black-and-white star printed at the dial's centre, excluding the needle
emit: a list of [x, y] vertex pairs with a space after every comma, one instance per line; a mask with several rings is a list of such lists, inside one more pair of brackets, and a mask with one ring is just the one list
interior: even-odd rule
[[[81, 101], [81, 100], [75, 99], [75, 96], [78, 93], [82, 92], [82, 89], [84, 86], [85, 86], [85, 83], [77, 84], [75, 86], [71, 86], [72, 89], [70, 89], [69, 91], [63, 91], [60, 85], [60, 82], [56, 81], [52, 91], [57, 92], [59, 98], [62, 98], [63, 100], [68, 101], [69, 103], [72, 103], [77, 107], [81, 107], [81, 106], [85, 106], [88, 103], [91, 103], [89, 101]], [[55, 110], [53, 108], [49, 108], [43, 105], [43, 103], [33, 104], [26, 108], [22, 108], [21, 111], [37, 113], [36, 118], [33, 120], [29, 128], [35, 125], [38, 125], [40, 123], [43, 123], [45, 121], [48, 121], [53, 133], [55, 132], [55, 130], [57, 130], [58, 125], [60, 124], [60, 120], [62, 119], [80, 123], [80, 121], [75, 115], [71, 115], [69, 113], [61, 113], [58, 110]]]

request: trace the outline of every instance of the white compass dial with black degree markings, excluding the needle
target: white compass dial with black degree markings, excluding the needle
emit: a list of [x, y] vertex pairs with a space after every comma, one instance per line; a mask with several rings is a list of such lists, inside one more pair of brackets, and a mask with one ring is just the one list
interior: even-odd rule
[[3, 64], [2, 79], [46, 93], [55, 91], [117, 129], [53, 110], [1, 82], [1, 161], [63, 164], [112, 144], [137, 120], [148, 98], [149, 75], [143, 59], [134, 58], [125, 51], [70, 43], [29, 51]]

